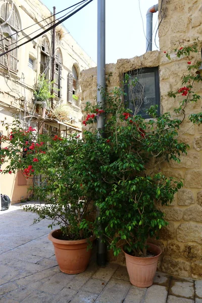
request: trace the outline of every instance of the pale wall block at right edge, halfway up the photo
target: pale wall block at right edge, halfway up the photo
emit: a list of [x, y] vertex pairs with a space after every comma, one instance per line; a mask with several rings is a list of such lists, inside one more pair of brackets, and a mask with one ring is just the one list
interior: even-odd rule
[[199, 168], [200, 167], [200, 155], [198, 153], [189, 152], [187, 155], [180, 156], [180, 163], [170, 161], [170, 166], [173, 168]]

